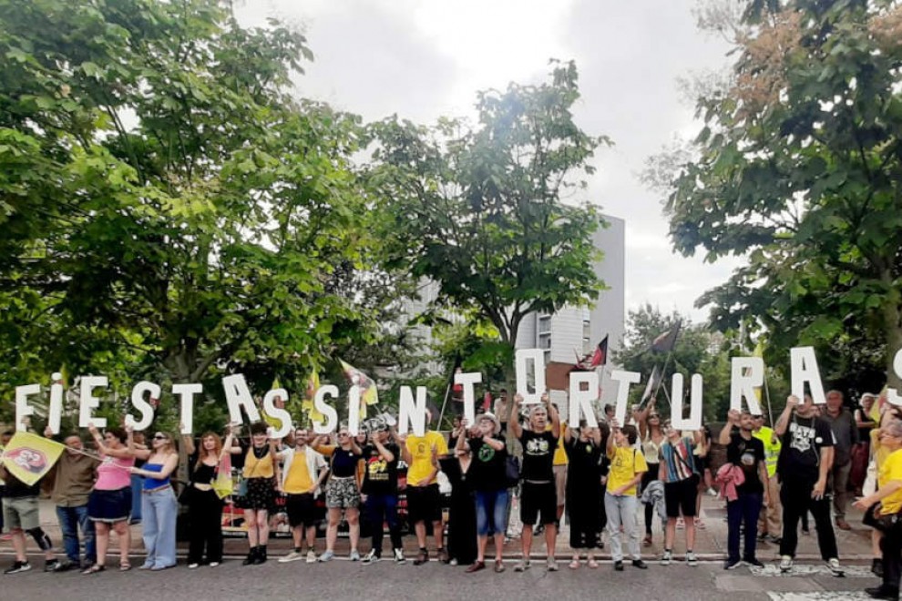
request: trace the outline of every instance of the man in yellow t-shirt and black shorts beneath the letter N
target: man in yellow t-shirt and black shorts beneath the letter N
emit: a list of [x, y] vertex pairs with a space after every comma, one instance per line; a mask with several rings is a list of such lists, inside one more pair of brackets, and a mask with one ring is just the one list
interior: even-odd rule
[[[426, 421], [432, 415], [426, 412]], [[442, 525], [442, 499], [438, 492], [438, 459], [448, 453], [445, 437], [435, 430], [427, 430], [422, 436], [400, 435], [405, 463], [407, 463], [407, 520], [414, 526], [419, 552], [414, 565], [429, 561], [426, 549], [426, 522], [432, 523], [432, 535], [436, 539], [438, 560], [448, 563], [450, 557], [445, 548], [445, 532]]]

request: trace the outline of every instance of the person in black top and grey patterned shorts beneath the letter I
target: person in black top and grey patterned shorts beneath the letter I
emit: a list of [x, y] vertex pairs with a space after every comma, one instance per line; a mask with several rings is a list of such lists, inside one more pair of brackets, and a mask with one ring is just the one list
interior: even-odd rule
[[342, 513], [348, 521], [348, 538], [351, 539], [351, 561], [360, 561], [357, 544], [360, 542], [360, 483], [357, 481], [357, 463], [363, 456], [359, 446], [346, 425], [338, 428], [335, 444], [321, 444], [314, 441], [313, 450], [330, 458], [332, 474], [326, 484], [326, 510], [329, 525], [326, 527], [326, 550], [320, 561], [330, 561], [335, 556], [335, 542], [338, 540], [338, 525]]

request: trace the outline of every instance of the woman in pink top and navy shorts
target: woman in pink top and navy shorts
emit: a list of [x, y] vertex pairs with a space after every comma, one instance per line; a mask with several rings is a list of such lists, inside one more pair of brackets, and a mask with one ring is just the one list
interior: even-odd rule
[[119, 539], [119, 569], [131, 569], [128, 563], [128, 548], [131, 536], [128, 518], [131, 514], [131, 474], [135, 464], [135, 442], [131, 428], [108, 428], [103, 437], [93, 424], [88, 432], [94, 438], [101, 463], [97, 467], [97, 482], [87, 498], [87, 516], [94, 522], [97, 534], [97, 563], [88, 567], [83, 574], [97, 574], [106, 569], [109, 531], [116, 532]]

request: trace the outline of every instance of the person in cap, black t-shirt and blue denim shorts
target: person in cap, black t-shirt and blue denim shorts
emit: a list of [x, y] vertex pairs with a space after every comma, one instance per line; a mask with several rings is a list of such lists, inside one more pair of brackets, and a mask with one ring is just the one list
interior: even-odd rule
[[504, 572], [501, 554], [507, 518], [507, 446], [500, 435], [501, 423], [494, 413], [482, 413], [477, 416], [476, 427], [466, 432], [469, 437], [457, 439], [456, 451], [470, 452], [466, 480], [474, 492], [477, 515], [477, 560], [466, 572], [486, 569], [489, 534], [495, 537], [495, 571]]

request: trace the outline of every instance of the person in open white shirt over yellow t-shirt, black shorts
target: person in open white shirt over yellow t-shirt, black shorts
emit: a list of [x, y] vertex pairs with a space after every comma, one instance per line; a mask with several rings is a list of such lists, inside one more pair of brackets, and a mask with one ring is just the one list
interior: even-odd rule
[[307, 444], [310, 433], [306, 428], [294, 431], [294, 448], [278, 453], [282, 462], [282, 490], [285, 492], [285, 511], [292, 528], [294, 550], [279, 560], [280, 564], [303, 559], [303, 540], [306, 535], [308, 564], [316, 562], [313, 545], [316, 542], [316, 495], [329, 475], [329, 466], [321, 453]]

